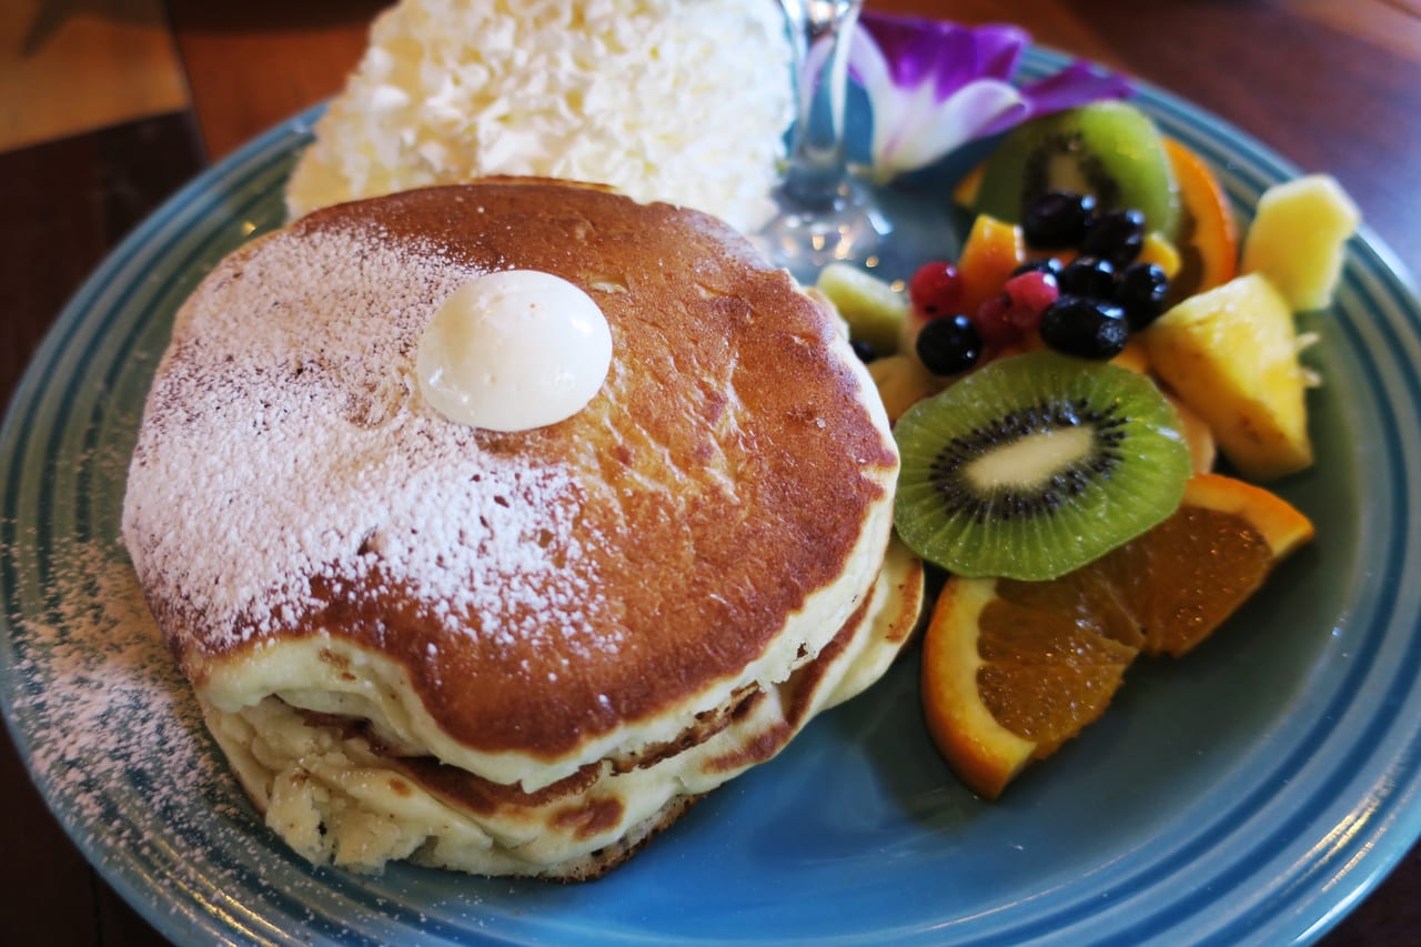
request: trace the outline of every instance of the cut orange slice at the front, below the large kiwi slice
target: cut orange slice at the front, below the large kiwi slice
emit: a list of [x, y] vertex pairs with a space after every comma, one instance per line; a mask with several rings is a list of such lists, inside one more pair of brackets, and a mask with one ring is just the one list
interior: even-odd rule
[[1106, 711], [1137, 654], [1194, 648], [1312, 535], [1273, 493], [1204, 474], [1162, 523], [1066, 576], [948, 579], [922, 651], [934, 742], [996, 799]]

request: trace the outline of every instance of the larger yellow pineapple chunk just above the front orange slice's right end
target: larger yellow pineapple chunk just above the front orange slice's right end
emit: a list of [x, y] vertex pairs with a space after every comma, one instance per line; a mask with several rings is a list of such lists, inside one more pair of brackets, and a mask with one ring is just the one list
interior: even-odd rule
[[1313, 462], [1293, 313], [1258, 273], [1191, 296], [1144, 333], [1150, 364], [1249, 479]]

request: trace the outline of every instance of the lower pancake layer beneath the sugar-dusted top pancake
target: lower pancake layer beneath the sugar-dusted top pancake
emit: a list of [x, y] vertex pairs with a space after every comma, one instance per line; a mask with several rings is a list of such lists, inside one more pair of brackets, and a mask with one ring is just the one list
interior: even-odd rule
[[921, 603], [922, 565], [894, 540], [865, 607], [786, 681], [733, 695], [723, 721], [692, 727], [674, 752], [598, 761], [533, 792], [406, 755], [367, 721], [298, 711], [276, 697], [230, 714], [203, 710], [267, 823], [313, 862], [377, 869], [409, 859], [585, 880], [877, 680]]

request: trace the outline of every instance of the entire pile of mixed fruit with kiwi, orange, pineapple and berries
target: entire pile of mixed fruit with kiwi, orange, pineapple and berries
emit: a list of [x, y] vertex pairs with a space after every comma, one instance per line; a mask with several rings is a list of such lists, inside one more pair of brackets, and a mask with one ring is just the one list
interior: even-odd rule
[[[1255, 479], [1312, 462], [1290, 310], [1330, 303], [1357, 215], [1327, 178], [1270, 189], [1241, 264], [1214, 171], [1121, 102], [1022, 124], [953, 200], [978, 212], [956, 279], [915, 276], [904, 337], [938, 323], [878, 371], [912, 401], [894, 414], [898, 533], [951, 573], [929, 728], [995, 798], [1138, 654], [1194, 648], [1312, 537], [1209, 471], [1216, 452]], [[924, 397], [922, 363], [962, 377]]]

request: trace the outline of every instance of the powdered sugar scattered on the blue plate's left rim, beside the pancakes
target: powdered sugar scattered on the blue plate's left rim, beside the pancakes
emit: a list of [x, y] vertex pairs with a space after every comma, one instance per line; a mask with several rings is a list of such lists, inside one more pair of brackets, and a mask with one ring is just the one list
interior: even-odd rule
[[[0, 556], [31, 576], [33, 536], [18, 546]], [[159, 927], [180, 941], [352, 943], [361, 926], [382, 924], [368, 909], [350, 913], [330, 877], [261, 825], [207, 737], [122, 547], [64, 537], [48, 553], [45, 586], [10, 600], [11, 721], [36, 781], [88, 856], [138, 880], [169, 914]], [[358, 897], [375, 910], [404, 906], [375, 890]], [[473, 923], [480, 901], [475, 890], [443, 913]]]

